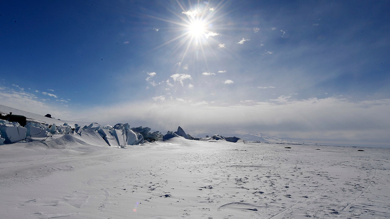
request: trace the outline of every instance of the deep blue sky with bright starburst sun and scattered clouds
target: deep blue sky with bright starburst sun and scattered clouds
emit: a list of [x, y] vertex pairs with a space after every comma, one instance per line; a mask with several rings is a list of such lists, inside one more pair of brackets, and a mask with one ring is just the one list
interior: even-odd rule
[[388, 1], [2, 1], [0, 104], [389, 145]]

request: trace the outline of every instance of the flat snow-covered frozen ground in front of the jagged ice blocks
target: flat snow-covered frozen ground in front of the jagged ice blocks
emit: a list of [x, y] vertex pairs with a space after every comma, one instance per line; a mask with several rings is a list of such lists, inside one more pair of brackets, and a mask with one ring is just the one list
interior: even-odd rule
[[0, 218], [390, 218], [389, 152], [183, 138], [2, 145]]

